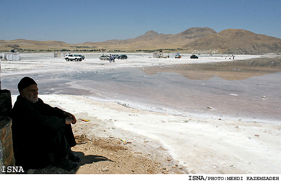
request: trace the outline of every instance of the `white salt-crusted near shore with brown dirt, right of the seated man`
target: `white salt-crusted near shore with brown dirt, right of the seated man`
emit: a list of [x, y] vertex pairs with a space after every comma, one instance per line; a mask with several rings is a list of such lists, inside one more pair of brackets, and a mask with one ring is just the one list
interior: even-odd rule
[[[127, 174], [133, 170], [146, 174], [148, 169], [138, 169], [136, 162], [145, 159], [146, 162], [153, 160], [149, 165], [154, 166], [155, 171], [151, 173], [280, 173], [280, 125], [182, 117], [98, 102], [83, 96], [40, 97], [46, 103], [74, 113], [79, 119], [73, 125], [73, 131], [78, 136], [86, 135], [91, 141], [83, 147], [78, 145], [75, 151], [83, 152], [86, 157], [101, 155], [110, 160], [123, 161], [128, 154], [124, 156], [119, 152], [120, 148], [126, 147], [133, 153], [131, 156], [140, 157], [125, 161], [126, 167], [131, 166], [121, 171], [107, 161], [107, 166], [110, 166], [108, 173]], [[124, 146], [120, 139], [131, 143]], [[119, 148], [119, 152], [108, 150], [106, 145]], [[95, 171], [100, 169], [100, 165], [93, 163], [83, 166], [77, 173], [100, 173], [99, 170]], [[91, 172], [89, 168], [93, 166], [96, 169]]]

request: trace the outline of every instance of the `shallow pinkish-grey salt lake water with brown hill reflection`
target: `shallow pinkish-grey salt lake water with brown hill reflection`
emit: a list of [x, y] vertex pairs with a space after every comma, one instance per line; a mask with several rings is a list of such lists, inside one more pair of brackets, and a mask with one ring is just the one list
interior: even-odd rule
[[[279, 58], [260, 58], [30, 76], [39, 83], [40, 94], [86, 95], [186, 116], [280, 123], [280, 63]], [[17, 94], [21, 77], [1, 78], [1, 85]]]

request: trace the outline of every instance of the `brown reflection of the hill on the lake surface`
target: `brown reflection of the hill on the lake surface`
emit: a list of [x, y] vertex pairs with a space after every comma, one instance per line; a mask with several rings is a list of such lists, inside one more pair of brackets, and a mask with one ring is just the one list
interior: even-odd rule
[[148, 75], [156, 73], [178, 73], [192, 80], [208, 80], [218, 76], [225, 80], [247, 79], [281, 72], [281, 58], [256, 58], [209, 64], [181, 64], [141, 69]]

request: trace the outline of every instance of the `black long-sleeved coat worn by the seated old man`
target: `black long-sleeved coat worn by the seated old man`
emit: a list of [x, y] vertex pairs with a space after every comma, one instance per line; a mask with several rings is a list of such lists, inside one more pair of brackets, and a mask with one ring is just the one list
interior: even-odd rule
[[30, 103], [21, 96], [17, 97], [11, 112], [16, 165], [44, 166], [46, 161], [49, 162], [47, 155], [50, 152], [50, 141], [66, 127], [63, 112], [45, 104], [41, 99]]

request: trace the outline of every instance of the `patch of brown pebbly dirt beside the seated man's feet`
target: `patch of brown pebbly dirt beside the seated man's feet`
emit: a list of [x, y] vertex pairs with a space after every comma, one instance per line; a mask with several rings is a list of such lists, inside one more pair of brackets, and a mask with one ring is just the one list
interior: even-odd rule
[[[188, 171], [169, 156], [134, 151], [132, 144], [116, 138], [88, 139], [75, 136], [72, 150], [82, 161], [78, 170], [66, 171], [54, 166], [28, 170], [27, 174], [188, 174]], [[158, 148], [159, 149], [159, 148]], [[165, 148], [160, 148], [165, 150]]]

